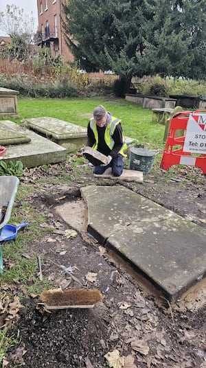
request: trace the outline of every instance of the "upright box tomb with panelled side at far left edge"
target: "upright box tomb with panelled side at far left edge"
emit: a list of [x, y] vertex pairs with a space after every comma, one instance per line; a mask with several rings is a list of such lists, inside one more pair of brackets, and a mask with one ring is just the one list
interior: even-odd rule
[[19, 91], [0, 87], [0, 117], [19, 117], [17, 108]]

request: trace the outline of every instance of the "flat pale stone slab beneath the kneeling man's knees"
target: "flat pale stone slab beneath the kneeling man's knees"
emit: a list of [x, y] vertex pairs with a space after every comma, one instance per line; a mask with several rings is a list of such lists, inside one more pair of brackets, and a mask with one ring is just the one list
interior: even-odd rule
[[143, 183], [143, 172], [137, 171], [137, 170], [123, 170], [122, 174], [120, 176], [113, 176], [111, 172], [111, 168], [108, 168], [105, 170], [104, 174], [98, 175], [93, 174], [95, 178], [105, 178], [105, 179], [113, 179], [113, 180], [119, 180], [119, 181], [135, 181], [136, 183]]

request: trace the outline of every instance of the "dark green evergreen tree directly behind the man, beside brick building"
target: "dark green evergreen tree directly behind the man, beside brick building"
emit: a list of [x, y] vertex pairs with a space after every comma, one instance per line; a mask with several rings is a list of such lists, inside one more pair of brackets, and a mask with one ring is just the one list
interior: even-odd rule
[[87, 71], [111, 69], [126, 86], [144, 74], [137, 54], [144, 46], [142, 0], [69, 0], [65, 5], [66, 42], [80, 67]]

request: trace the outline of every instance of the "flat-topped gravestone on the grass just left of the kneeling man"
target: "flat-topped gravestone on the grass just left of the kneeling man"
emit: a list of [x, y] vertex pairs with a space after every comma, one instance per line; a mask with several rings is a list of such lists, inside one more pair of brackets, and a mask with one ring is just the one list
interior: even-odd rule
[[64, 122], [54, 117], [24, 119], [24, 125], [36, 133], [73, 152], [82, 148], [87, 141], [87, 128]]

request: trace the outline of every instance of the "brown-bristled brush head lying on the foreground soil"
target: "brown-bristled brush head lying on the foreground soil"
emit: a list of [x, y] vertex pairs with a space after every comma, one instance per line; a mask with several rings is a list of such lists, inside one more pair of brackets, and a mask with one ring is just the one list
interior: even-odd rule
[[94, 304], [102, 300], [100, 290], [93, 289], [50, 289], [40, 295], [47, 310], [66, 308], [93, 308]]

